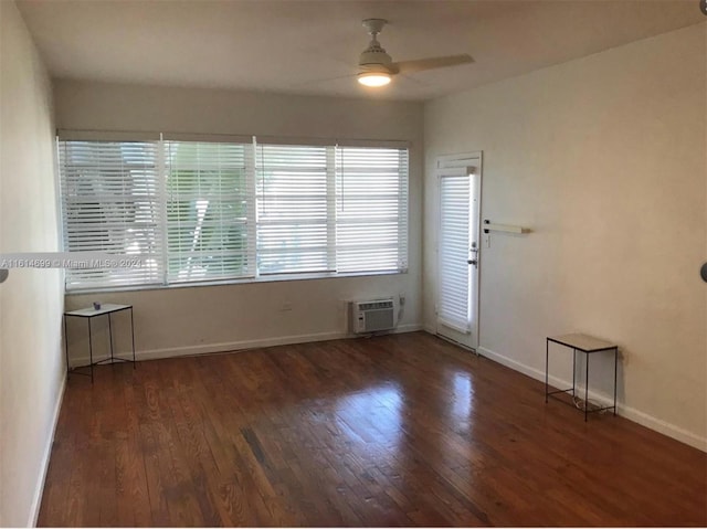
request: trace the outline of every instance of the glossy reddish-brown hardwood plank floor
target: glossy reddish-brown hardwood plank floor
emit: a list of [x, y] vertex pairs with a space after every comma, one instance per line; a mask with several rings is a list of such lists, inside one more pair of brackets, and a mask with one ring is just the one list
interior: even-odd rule
[[707, 455], [422, 332], [67, 383], [40, 526], [707, 525]]

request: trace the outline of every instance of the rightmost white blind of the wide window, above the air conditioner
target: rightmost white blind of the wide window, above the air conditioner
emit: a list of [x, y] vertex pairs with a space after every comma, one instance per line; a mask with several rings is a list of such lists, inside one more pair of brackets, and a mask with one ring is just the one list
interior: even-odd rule
[[337, 272], [408, 268], [408, 150], [337, 148]]

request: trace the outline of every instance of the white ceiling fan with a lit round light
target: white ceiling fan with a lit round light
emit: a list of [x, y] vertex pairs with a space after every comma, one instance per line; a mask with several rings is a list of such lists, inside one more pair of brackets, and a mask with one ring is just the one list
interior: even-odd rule
[[410, 74], [425, 70], [444, 68], [458, 64], [473, 63], [471, 55], [447, 55], [441, 57], [418, 59], [415, 61], [393, 62], [378, 42], [378, 35], [388, 23], [383, 19], [366, 19], [363, 28], [371, 35], [371, 42], [359, 59], [358, 82], [366, 86], [384, 86], [397, 74]]

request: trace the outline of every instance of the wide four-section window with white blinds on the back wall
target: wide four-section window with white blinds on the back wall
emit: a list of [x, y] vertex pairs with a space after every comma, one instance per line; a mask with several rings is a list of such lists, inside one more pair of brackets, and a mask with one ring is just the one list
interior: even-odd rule
[[64, 247], [144, 266], [67, 269], [95, 289], [405, 272], [408, 150], [60, 139]]

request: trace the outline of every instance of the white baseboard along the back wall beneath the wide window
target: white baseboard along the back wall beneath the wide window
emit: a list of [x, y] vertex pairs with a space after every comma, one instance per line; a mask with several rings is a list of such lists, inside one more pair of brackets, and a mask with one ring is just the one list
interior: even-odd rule
[[[401, 334], [401, 332], [414, 332], [416, 330], [422, 330], [422, 326], [419, 324], [407, 324], [400, 325], [395, 329], [392, 330], [392, 334]], [[136, 351], [135, 358], [138, 361], [143, 360], [160, 360], [163, 358], [176, 358], [176, 357], [192, 357], [194, 355], [210, 355], [215, 352], [230, 352], [230, 351], [242, 351], [244, 349], [257, 349], [262, 347], [274, 347], [274, 346], [289, 346], [294, 343], [307, 343], [313, 341], [326, 341], [326, 340], [341, 340], [346, 338], [358, 338], [358, 335], [352, 335], [349, 332], [317, 332], [310, 335], [291, 335], [291, 336], [281, 336], [275, 338], [258, 338], [255, 340], [241, 340], [241, 341], [229, 341], [222, 343], [205, 343], [202, 346], [187, 346], [187, 347], [169, 347], [165, 349], [148, 349], [143, 351]], [[130, 352], [119, 352], [116, 353], [116, 357], [131, 359]], [[105, 355], [101, 357], [95, 357], [94, 361], [105, 360]], [[71, 359], [72, 366], [85, 366], [88, 363], [88, 357], [75, 357]]]

